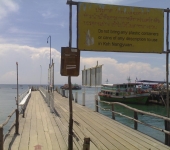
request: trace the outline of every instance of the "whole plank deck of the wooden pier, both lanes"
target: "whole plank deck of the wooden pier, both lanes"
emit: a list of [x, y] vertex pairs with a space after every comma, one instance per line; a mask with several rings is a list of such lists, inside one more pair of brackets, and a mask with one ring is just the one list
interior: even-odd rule
[[[20, 118], [19, 135], [11, 132], [4, 149], [68, 149], [68, 98], [54, 92], [54, 107], [55, 113], [51, 113], [40, 92], [32, 92], [25, 118]], [[83, 149], [84, 139], [88, 138], [91, 150], [170, 150], [157, 140], [74, 102], [73, 132], [75, 150]]]

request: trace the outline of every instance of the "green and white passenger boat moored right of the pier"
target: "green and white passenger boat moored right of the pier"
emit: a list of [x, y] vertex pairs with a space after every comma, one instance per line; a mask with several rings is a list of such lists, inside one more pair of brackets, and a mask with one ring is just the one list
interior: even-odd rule
[[103, 84], [98, 95], [102, 101], [146, 104], [150, 93], [140, 88], [140, 84]]

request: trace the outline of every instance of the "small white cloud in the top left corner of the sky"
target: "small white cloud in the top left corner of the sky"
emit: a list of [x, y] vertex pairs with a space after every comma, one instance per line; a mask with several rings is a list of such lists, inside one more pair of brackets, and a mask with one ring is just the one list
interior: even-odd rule
[[13, 2], [13, 0], [0, 0], [0, 20], [18, 9], [18, 4]]

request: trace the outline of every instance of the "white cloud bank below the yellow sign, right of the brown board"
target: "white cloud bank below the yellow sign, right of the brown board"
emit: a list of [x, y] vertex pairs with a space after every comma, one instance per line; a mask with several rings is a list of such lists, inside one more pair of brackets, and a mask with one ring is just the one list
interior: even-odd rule
[[[109, 83], [125, 83], [129, 75], [132, 82], [135, 82], [136, 77], [143, 80], [163, 81], [165, 79], [164, 68], [152, 67], [148, 63], [119, 63], [113, 58], [81, 58], [81, 63], [86, 66], [86, 69], [96, 66], [97, 61], [99, 65], [103, 64], [103, 83], [105, 83], [106, 79], [109, 80]], [[84, 68], [84, 65], [81, 68]]]

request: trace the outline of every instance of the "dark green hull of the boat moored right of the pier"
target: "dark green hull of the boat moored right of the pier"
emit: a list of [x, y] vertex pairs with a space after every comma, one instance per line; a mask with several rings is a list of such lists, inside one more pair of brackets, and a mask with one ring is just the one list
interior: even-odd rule
[[121, 102], [121, 103], [133, 103], [133, 104], [146, 104], [148, 101], [149, 95], [135, 95], [135, 96], [101, 96], [99, 95], [100, 100], [109, 101], [109, 102]]

